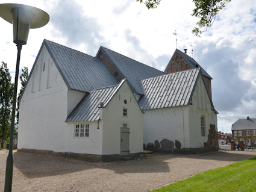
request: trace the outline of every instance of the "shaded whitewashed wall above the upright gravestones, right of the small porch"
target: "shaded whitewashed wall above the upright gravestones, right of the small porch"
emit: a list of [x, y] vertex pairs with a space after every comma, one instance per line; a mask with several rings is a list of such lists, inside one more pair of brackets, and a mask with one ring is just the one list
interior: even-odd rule
[[180, 107], [145, 110], [144, 143], [167, 140], [180, 141], [181, 148], [189, 148], [189, 110]]

